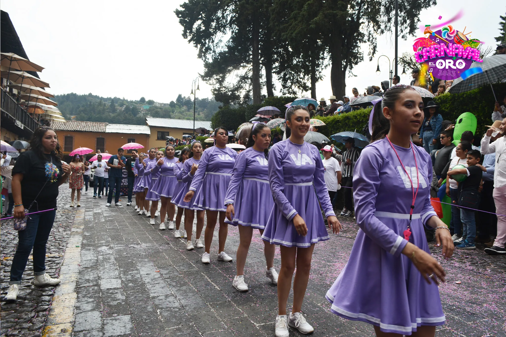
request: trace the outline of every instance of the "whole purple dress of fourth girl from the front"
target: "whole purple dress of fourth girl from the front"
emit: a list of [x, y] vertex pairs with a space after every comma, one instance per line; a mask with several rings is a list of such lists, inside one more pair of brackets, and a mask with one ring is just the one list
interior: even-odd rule
[[223, 211], [228, 183], [234, 169], [237, 152], [216, 146], [204, 151], [189, 190], [195, 191], [194, 206], [211, 211]]

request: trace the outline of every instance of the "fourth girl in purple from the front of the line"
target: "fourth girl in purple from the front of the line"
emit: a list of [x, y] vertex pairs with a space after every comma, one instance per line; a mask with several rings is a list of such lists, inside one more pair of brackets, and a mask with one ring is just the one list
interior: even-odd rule
[[225, 223], [225, 194], [227, 193], [230, 176], [234, 169], [237, 152], [227, 148], [228, 130], [224, 127], [215, 129], [215, 146], [204, 151], [198, 169], [191, 182], [190, 189], [184, 201], [189, 202], [195, 195], [194, 205], [205, 209], [207, 225], [205, 226], [205, 252], [202, 263], [209, 263], [209, 252], [213, 242], [216, 220], [220, 213], [220, 231], [218, 233], [218, 260], [230, 262], [232, 258], [225, 250], [228, 234], [228, 224]]

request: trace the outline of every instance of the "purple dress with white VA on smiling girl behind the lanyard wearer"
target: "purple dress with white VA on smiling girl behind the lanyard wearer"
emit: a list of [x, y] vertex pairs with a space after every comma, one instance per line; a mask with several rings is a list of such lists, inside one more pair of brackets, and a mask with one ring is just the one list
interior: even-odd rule
[[[275, 143], [269, 152], [274, 207], [262, 235], [264, 240], [286, 247], [309, 247], [329, 239], [320, 204], [325, 216], [335, 213], [323, 175], [323, 162], [314, 145], [294, 144], [289, 139]], [[306, 236], [299, 235], [293, 226], [297, 214], [306, 221]]]

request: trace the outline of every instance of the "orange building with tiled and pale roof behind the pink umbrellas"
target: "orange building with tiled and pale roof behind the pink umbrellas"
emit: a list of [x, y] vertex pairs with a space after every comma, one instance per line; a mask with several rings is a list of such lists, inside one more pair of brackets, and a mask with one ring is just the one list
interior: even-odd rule
[[[108, 151], [116, 154], [117, 149], [125, 143], [136, 142], [144, 145], [144, 151], [149, 149], [150, 129], [145, 125], [109, 124], [103, 122], [67, 121], [51, 123], [56, 131], [58, 140], [67, 156], [76, 148], [90, 148], [94, 152]], [[125, 151], [125, 155], [128, 155]], [[68, 158], [66, 158], [68, 159]], [[65, 159], [64, 159], [65, 160]]]

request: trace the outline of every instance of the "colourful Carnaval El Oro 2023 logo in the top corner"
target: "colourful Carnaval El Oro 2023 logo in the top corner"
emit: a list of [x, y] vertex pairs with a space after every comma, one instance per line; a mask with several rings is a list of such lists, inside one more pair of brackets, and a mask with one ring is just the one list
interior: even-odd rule
[[[431, 25], [426, 25], [424, 34], [429, 34], [428, 37], [414, 40], [416, 62], [421, 63], [422, 68], [427, 69], [433, 79], [453, 80], [460, 76], [464, 78], [473, 62], [483, 62], [480, 59], [480, 51], [476, 49], [483, 42], [469, 39], [467, 35], [472, 32], [465, 34], [466, 28], [458, 31], [448, 24], [460, 16], [459, 13], [450, 21], [434, 26], [433, 29], [441, 27], [436, 31], [431, 29]], [[441, 20], [441, 16], [439, 19]]]

